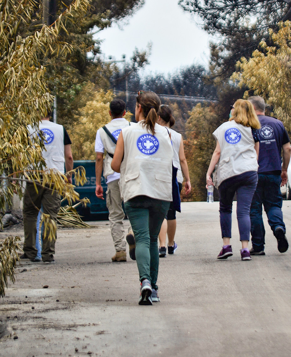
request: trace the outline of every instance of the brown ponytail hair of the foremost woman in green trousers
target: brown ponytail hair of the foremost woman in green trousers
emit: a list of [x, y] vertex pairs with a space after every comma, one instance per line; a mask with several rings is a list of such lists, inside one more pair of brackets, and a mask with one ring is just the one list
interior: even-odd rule
[[145, 116], [143, 126], [146, 127], [148, 132], [155, 134], [154, 126], [158, 120], [157, 111], [160, 107], [160, 99], [154, 92], [144, 92], [139, 91], [138, 96], [136, 97], [137, 104], [142, 108], [143, 114]]

